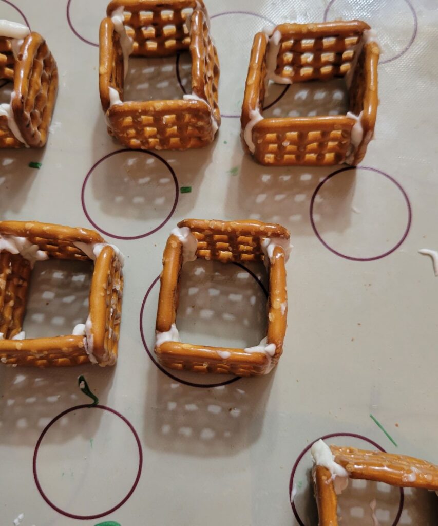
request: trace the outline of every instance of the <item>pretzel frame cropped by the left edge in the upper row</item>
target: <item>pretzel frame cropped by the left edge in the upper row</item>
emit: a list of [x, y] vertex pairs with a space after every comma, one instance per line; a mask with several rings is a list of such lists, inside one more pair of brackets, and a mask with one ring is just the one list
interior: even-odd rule
[[[46, 41], [29, 33], [14, 57], [12, 39], [0, 36], [0, 80], [12, 80], [11, 110], [26, 144], [40, 148], [47, 142], [58, 90], [58, 68]], [[0, 148], [25, 146], [0, 115]]]

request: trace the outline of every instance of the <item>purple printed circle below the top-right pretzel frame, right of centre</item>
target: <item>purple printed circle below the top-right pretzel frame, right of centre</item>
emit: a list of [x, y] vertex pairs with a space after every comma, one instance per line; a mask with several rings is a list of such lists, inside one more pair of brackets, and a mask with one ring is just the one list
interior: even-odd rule
[[[324, 241], [324, 239], [322, 238], [320, 232], [318, 231], [317, 226], [315, 225], [315, 220], [314, 220], [314, 215], [313, 215], [313, 207], [314, 207], [315, 197], [318, 195], [318, 192], [321, 189], [321, 187], [325, 183], [327, 183], [327, 181], [329, 181], [335, 175], [341, 174], [342, 172], [347, 171], [347, 170], [355, 170], [355, 169], [374, 171], [375, 173], [383, 175], [388, 180], [390, 180], [392, 183], [394, 183], [394, 185], [400, 190], [401, 194], [403, 195], [405, 203], [406, 203], [406, 208], [408, 209], [408, 224], [406, 225], [406, 228], [405, 228], [405, 230], [403, 232], [403, 235], [402, 235], [401, 239], [391, 249], [387, 250], [386, 252], [384, 252], [383, 254], [380, 254], [378, 256], [372, 256], [372, 257], [367, 257], [367, 258], [359, 258], [359, 257], [348, 256], [347, 254], [342, 254], [338, 250], [335, 250], [333, 247], [331, 247], [326, 241]], [[378, 170], [376, 168], [371, 168], [371, 167], [368, 167], [368, 166], [347, 166], [345, 168], [340, 168], [339, 170], [336, 170], [336, 171], [332, 172], [331, 174], [329, 174], [327, 177], [325, 177], [325, 179], [323, 179], [321, 181], [321, 183], [317, 186], [317, 188], [313, 192], [312, 198], [310, 200], [310, 222], [311, 222], [313, 231], [315, 233], [315, 236], [317, 236], [317, 238], [321, 241], [321, 243], [324, 245], [324, 247], [327, 248], [328, 250], [330, 250], [331, 252], [333, 252], [333, 254], [336, 254], [337, 256], [340, 256], [341, 258], [344, 258], [344, 259], [349, 259], [350, 261], [374, 261], [376, 259], [381, 259], [381, 258], [384, 258], [384, 257], [389, 256], [390, 254], [392, 254], [392, 252], [394, 252], [396, 249], [398, 249], [400, 247], [400, 245], [403, 243], [403, 241], [406, 239], [406, 236], [408, 236], [409, 230], [411, 228], [412, 209], [411, 209], [411, 203], [409, 201], [409, 197], [406, 194], [406, 192], [404, 191], [403, 187], [400, 185], [400, 183], [398, 183], [398, 181], [396, 181], [390, 175], [385, 174], [381, 170]]]

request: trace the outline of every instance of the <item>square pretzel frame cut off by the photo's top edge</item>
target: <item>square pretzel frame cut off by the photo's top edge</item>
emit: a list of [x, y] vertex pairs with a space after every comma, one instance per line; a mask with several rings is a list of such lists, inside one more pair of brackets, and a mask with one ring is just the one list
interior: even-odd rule
[[[124, 56], [111, 19], [120, 6], [124, 6], [125, 31], [133, 38], [132, 56], [162, 57], [189, 50], [189, 98], [111, 106], [109, 88], [124, 100]], [[128, 148], [185, 150], [211, 143], [220, 125], [219, 59], [202, 0], [113, 0], [100, 24], [99, 47], [100, 100], [110, 135]]]

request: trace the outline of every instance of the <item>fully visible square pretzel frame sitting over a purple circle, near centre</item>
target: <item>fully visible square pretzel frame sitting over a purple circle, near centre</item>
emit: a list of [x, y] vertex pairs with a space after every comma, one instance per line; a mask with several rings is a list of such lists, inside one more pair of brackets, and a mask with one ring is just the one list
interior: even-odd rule
[[[198, 241], [196, 256], [214, 259], [223, 263], [263, 261], [261, 241], [264, 238], [289, 239], [289, 231], [280, 226], [261, 221], [220, 221], [185, 219], [178, 227], [188, 227]], [[268, 332], [267, 345], [273, 343], [276, 350], [272, 358], [264, 352], [245, 352], [243, 349], [228, 349], [191, 345], [179, 341], [166, 341], [155, 346], [158, 361], [162, 366], [194, 372], [232, 373], [237, 376], [263, 375], [274, 367], [283, 350], [286, 333], [287, 290], [284, 249], [276, 246], [267, 265], [269, 273]], [[175, 323], [179, 279], [181, 274], [182, 243], [170, 235], [163, 255], [163, 270], [160, 277], [160, 293], [157, 311], [157, 332], [167, 332]], [[221, 358], [218, 352], [229, 352], [229, 358]]]

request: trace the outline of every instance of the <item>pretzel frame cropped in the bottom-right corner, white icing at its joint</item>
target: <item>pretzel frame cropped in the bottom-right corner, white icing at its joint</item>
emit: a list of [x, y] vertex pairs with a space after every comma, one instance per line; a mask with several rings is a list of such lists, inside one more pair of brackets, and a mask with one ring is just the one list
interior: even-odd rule
[[[438, 490], [438, 466], [404, 455], [330, 446], [334, 461], [351, 479], [374, 480], [404, 488]], [[313, 482], [319, 526], [338, 526], [338, 497], [331, 472], [314, 466]]]

